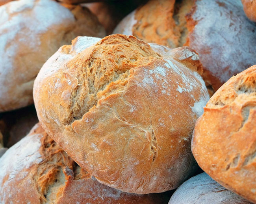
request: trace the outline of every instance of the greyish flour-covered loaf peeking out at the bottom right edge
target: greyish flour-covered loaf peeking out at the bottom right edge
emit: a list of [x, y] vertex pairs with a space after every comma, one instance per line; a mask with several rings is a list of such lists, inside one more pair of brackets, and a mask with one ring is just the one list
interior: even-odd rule
[[184, 182], [172, 195], [169, 204], [249, 204], [242, 197], [224, 188], [206, 173]]

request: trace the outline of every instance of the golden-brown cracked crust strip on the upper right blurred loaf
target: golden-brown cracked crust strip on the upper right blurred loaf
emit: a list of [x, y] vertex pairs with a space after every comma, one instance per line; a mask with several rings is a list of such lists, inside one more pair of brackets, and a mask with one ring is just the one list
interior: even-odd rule
[[187, 36], [185, 15], [192, 4], [192, 0], [150, 0], [136, 9], [132, 35], [150, 43], [182, 46]]

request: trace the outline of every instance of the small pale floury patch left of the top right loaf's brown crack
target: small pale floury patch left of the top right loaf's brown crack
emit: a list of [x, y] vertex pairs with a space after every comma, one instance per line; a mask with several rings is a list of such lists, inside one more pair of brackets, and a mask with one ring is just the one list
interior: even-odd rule
[[120, 33], [124, 35], [133, 35], [132, 27], [137, 23], [135, 20], [135, 11], [128, 14], [115, 28], [113, 34]]

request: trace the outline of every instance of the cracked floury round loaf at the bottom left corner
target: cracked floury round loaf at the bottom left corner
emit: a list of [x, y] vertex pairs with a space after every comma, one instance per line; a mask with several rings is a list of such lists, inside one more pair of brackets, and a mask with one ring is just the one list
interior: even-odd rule
[[31, 204], [162, 204], [163, 194], [123, 193], [81, 169], [36, 124], [0, 159], [0, 202]]

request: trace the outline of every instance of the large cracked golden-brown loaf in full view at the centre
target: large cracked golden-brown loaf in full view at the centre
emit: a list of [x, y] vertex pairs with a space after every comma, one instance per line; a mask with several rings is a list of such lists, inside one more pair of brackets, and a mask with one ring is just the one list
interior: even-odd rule
[[200, 68], [187, 47], [79, 37], [39, 72], [37, 115], [103, 184], [139, 194], [174, 189], [194, 171], [190, 138], [209, 98]]

